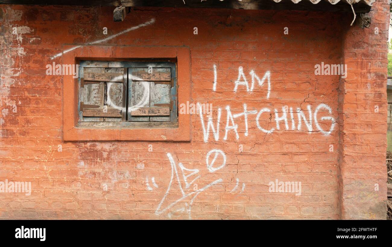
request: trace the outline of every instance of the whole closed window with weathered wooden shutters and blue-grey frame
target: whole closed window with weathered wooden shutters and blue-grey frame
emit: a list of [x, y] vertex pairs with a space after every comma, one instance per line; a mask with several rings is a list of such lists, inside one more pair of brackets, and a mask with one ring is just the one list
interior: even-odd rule
[[79, 126], [175, 127], [176, 64], [80, 61]]

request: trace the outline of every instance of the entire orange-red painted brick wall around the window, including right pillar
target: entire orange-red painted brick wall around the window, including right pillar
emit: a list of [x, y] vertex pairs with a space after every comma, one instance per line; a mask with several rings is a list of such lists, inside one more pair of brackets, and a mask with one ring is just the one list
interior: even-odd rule
[[[0, 181], [31, 181], [33, 188], [31, 195], [0, 193], [0, 218], [385, 218], [388, 5], [374, 5], [367, 29], [350, 28], [350, 15], [321, 12], [138, 8], [114, 23], [108, 7], [0, 6]], [[62, 102], [69, 99], [62, 97], [62, 76], [45, 75], [46, 64], [61, 64], [62, 56], [50, 57], [63, 44], [107, 38], [151, 18], [153, 24], [100, 45], [188, 47], [190, 103], [211, 103], [215, 127], [221, 108], [218, 140], [210, 133], [204, 141], [200, 115], [193, 114], [191, 142], [64, 142]], [[315, 75], [321, 62], [346, 63], [347, 78]], [[269, 97], [267, 82], [259, 86], [257, 80], [251, 92], [244, 85], [234, 91], [240, 66], [249, 85], [251, 70], [260, 79], [270, 72]], [[226, 107], [235, 115], [243, 104], [271, 115], [256, 121], [250, 114], [248, 135], [243, 116], [234, 118], [238, 138], [230, 129], [225, 140]], [[319, 110], [320, 128], [331, 126], [322, 116], [336, 121], [330, 134], [314, 121], [320, 104], [332, 111]], [[310, 132], [303, 120], [298, 129], [296, 112], [299, 107], [309, 120], [308, 105]], [[294, 109], [295, 129], [290, 113], [289, 130], [284, 121], [277, 129], [274, 109], [282, 116], [285, 106]], [[257, 123], [274, 131], [266, 134]], [[224, 155], [207, 164], [211, 150]], [[189, 188], [179, 163], [194, 169], [185, 175], [198, 170], [187, 177], [195, 179]], [[301, 182], [301, 195], [269, 192], [276, 179]]]

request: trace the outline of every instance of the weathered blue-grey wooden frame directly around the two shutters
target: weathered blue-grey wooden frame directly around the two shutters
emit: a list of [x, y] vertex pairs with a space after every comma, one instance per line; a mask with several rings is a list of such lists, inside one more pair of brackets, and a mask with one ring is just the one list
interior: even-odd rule
[[[131, 89], [129, 84], [132, 80], [132, 68], [171, 68], [171, 78], [173, 79], [173, 86], [170, 88], [170, 96], [172, 109], [170, 110], [170, 122], [158, 122], [158, 121], [129, 121], [130, 107], [129, 101], [131, 100]], [[79, 61], [79, 77], [78, 77], [78, 89], [80, 89], [80, 79], [83, 77], [84, 68], [126, 68], [127, 69], [127, 92], [123, 94], [125, 96], [125, 110], [127, 120], [122, 122], [79, 122], [77, 127], [91, 127], [91, 128], [177, 128], [178, 127], [178, 90], [177, 90], [177, 64], [174, 61], [159, 61], [159, 59], [150, 59], [144, 61], [95, 61], [95, 60], [80, 60]], [[78, 92], [79, 95], [79, 92]], [[79, 119], [83, 116], [80, 110], [80, 98], [78, 97], [78, 116]]]

